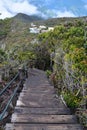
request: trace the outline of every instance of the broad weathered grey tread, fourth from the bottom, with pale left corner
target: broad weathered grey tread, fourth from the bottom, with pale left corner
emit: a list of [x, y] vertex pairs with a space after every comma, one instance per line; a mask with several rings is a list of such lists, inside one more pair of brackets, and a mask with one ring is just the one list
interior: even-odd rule
[[65, 107], [63, 102], [56, 97], [56, 94], [49, 93], [21, 93], [16, 105], [28, 107]]

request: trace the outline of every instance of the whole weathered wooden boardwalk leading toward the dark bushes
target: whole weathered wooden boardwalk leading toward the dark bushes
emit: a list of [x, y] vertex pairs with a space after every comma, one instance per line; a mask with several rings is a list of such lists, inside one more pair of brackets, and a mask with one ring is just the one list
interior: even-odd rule
[[31, 69], [6, 130], [82, 130], [43, 71]]

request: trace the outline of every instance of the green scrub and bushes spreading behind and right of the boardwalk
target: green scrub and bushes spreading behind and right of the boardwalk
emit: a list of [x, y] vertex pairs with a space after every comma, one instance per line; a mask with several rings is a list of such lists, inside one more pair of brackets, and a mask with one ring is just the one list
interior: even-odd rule
[[[1, 20], [0, 36], [5, 35], [7, 44], [5, 49], [0, 49], [0, 69], [5, 67], [7, 70], [10, 66], [16, 71], [27, 65], [46, 70], [58, 93], [63, 95], [70, 108], [79, 108], [78, 116], [87, 125], [84, 114], [87, 109], [87, 23], [85, 18], [68, 18], [68, 21], [62, 18], [60, 21], [43, 21], [47, 26], [56, 26], [53, 31], [36, 35], [29, 33], [28, 21], [6, 19], [4, 28]], [[35, 43], [32, 42], [34, 39]]]

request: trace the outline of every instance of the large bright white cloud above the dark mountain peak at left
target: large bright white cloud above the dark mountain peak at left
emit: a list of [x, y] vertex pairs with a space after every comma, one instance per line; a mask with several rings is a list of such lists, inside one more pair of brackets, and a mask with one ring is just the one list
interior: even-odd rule
[[38, 9], [34, 5], [31, 5], [28, 0], [0, 0], [0, 13], [0, 19], [4, 19], [12, 17], [17, 13], [37, 14]]

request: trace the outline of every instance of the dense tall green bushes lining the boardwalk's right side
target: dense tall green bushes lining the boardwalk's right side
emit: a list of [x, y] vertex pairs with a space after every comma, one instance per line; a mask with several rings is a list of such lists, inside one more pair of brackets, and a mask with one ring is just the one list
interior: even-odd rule
[[[70, 108], [87, 108], [87, 43], [86, 23], [76, 21], [56, 26], [40, 34], [40, 45], [48, 48], [55, 73], [54, 85], [63, 93]], [[45, 52], [44, 52], [45, 53]], [[85, 117], [86, 122], [86, 117]]]

